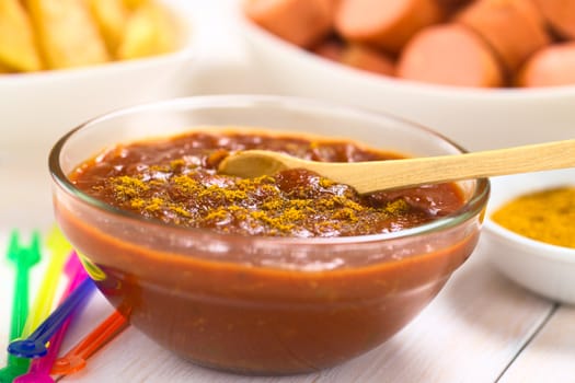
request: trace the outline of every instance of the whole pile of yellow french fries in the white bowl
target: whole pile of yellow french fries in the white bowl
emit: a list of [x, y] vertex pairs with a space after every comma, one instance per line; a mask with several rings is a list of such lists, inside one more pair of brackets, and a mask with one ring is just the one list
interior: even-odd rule
[[157, 0], [0, 0], [0, 73], [161, 55], [179, 39]]

